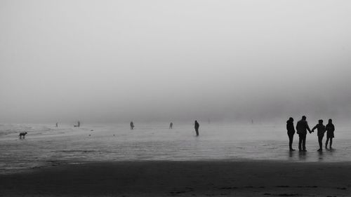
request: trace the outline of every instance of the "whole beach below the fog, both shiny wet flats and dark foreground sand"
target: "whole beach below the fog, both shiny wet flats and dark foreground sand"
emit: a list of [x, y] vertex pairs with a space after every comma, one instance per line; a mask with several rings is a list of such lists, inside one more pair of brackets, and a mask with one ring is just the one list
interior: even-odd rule
[[349, 127], [290, 152], [284, 125], [175, 125], [2, 125], [0, 196], [351, 196]]

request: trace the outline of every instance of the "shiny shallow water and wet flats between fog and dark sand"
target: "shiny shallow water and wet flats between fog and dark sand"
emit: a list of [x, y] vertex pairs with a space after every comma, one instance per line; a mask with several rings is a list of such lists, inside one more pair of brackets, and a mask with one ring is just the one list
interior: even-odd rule
[[[310, 125], [312, 126], [312, 125]], [[27, 131], [24, 140], [18, 133]], [[336, 125], [333, 150], [318, 152], [317, 131], [307, 135], [307, 152], [288, 151], [285, 124], [128, 123], [116, 125], [0, 125], [0, 173], [48, 165], [96, 161], [270, 160], [351, 161], [351, 128]], [[324, 142], [325, 142], [324, 137]], [[293, 147], [298, 149], [298, 135]]]

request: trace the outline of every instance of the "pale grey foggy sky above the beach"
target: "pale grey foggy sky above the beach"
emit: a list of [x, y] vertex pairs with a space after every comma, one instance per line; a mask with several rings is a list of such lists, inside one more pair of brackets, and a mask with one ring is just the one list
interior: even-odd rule
[[0, 122], [350, 120], [350, 24], [351, 1], [1, 0]]

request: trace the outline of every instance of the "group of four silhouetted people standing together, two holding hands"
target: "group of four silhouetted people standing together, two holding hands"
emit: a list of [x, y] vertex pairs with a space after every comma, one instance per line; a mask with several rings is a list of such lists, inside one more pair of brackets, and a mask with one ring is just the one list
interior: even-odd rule
[[[329, 144], [329, 149], [331, 148], [331, 144], [333, 143], [333, 137], [334, 137], [334, 130], [335, 127], [333, 125], [333, 121], [329, 119], [328, 124], [324, 125], [323, 120], [319, 120], [318, 124], [310, 130], [310, 127], [308, 126], [308, 123], [306, 121], [306, 116], [303, 116], [300, 121], [296, 124], [296, 133], [298, 134], [298, 151], [306, 151], [306, 135], [307, 135], [307, 130], [309, 133], [313, 133], [314, 130], [317, 129], [317, 136], [318, 136], [318, 143], [319, 143], [319, 149], [318, 151], [322, 151], [323, 149], [323, 137], [324, 133], [326, 133], [326, 144], [325, 148], [328, 149], [328, 142], [330, 140]], [[290, 151], [295, 151], [293, 149], [293, 135], [295, 134], [295, 127], [293, 126], [293, 118], [289, 118], [288, 121], [286, 121], [286, 130], [288, 130], [288, 136], [289, 136], [289, 149]]]

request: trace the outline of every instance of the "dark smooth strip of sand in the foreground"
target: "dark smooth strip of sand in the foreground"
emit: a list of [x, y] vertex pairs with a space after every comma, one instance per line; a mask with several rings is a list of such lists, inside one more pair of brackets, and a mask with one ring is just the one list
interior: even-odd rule
[[0, 175], [0, 196], [351, 196], [351, 163], [138, 161]]

